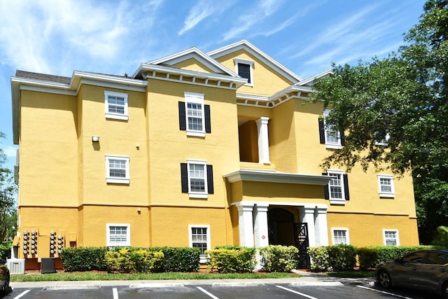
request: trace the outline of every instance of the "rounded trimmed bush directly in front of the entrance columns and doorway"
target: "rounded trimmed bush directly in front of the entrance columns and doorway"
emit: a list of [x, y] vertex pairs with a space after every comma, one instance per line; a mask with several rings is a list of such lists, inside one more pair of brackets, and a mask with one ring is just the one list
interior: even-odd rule
[[261, 265], [267, 272], [290, 272], [297, 265], [299, 249], [294, 246], [269, 245], [260, 248]]

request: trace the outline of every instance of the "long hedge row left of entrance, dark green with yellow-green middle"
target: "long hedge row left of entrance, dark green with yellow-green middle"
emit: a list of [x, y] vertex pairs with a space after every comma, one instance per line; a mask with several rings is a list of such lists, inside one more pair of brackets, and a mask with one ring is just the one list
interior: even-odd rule
[[190, 247], [66, 247], [61, 253], [64, 271], [196, 272], [200, 251]]

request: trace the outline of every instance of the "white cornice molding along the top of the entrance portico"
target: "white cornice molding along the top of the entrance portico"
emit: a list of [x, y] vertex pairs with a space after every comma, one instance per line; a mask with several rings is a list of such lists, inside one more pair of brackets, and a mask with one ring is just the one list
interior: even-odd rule
[[224, 174], [229, 183], [237, 181], [258, 181], [267, 183], [296, 183], [302, 185], [325, 186], [330, 181], [328, 176], [314, 174], [294, 174], [290, 172], [273, 172], [262, 170], [239, 169], [236, 172]]

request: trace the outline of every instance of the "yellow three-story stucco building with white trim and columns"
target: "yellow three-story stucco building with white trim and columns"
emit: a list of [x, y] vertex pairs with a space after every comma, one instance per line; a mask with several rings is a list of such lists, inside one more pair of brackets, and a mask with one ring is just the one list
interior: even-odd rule
[[17, 71], [19, 237], [27, 267], [62, 246], [419, 243], [412, 179], [323, 172], [344, 146], [304, 80], [248, 41], [131, 76]]

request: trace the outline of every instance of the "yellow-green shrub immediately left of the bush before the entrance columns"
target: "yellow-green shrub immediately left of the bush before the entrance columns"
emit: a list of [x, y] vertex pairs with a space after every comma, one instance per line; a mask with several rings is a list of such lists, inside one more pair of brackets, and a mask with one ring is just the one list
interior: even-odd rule
[[209, 255], [209, 269], [218, 272], [252, 272], [255, 267], [255, 248], [237, 247], [237, 249], [212, 249], [205, 251]]

